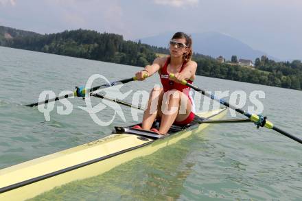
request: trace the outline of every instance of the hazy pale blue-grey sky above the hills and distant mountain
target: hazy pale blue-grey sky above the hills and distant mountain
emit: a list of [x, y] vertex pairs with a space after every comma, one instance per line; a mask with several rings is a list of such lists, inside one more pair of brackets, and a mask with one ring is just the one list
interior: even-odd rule
[[281, 60], [302, 60], [302, 0], [0, 0], [0, 25], [40, 34], [93, 29], [126, 40], [220, 32]]

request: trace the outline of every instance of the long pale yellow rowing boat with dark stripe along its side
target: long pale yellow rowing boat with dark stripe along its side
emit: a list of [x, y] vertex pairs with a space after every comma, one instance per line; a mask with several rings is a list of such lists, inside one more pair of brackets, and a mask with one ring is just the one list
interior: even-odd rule
[[165, 136], [132, 126], [116, 127], [108, 137], [1, 169], [0, 200], [34, 198], [74, 180], [100, 175], [198, 133], [209, 125], [202, 121], [221, 119], [226, 113], [227, 108], [198, 113], [192, 123], [173, 125]]

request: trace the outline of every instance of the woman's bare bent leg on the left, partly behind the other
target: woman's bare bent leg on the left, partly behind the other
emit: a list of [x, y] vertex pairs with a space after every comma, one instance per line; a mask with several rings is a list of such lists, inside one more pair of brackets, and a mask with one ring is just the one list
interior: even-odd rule
[[163, 100], [163, 88], [154, 87], [150, 93], [148, 107], [143, 113], [143, 130], [150, 130], [157, 116], [161, 116], [161, 102]]

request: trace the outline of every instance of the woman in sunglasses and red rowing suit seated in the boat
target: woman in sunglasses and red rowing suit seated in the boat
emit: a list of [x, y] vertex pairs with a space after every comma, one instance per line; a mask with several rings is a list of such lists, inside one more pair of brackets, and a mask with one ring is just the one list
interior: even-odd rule
[[[189, 86], [181, 84], [181, 80], [192, 83], [195, 78], [197, 64], [191, 60], [192, 52], [191, 37], [177, 32], [170, 40], [170, 56], [156, 58], [135, 74], [138, 80], [144, 80], [145, 74], [149, 77], [158, 72], [163, 85], [163, 88], [154, 87], [150, 93], [148, 108], [143, 115], [143, 130], [150, 130], [156, 118], [161, 119], [161, 126], [159, 130], [151, 130], [159, 134], [166, 134], [173, 123], [183, 126], [194, 119]], [[173, 78], [169, 77], [170, 73], [174, 74]]]

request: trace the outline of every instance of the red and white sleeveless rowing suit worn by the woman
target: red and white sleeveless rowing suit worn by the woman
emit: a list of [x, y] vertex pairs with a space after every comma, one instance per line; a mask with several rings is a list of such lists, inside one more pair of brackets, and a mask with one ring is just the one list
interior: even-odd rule
[[[183, 65], [181, 66], [181, 71], [183, 71], [183, 68], [185, 67], [186, 63], [187, 62], [183, 62]], [[186, 124], [190, 123], [195, 117], [195, 104], [194, 104], [193, 98], [191, 97], [191, 90], [190, 90], [191, 88], [189, 88], [189, 86], [174, 82], [173, 80], [169, 79], [169, 73], [167, 72], [168, 64], [170, 64], [170, 57], [167, 58], [165, 65], [161, 69], [160, 76], [161, 76], [161, 84], [163, 85], [163, 91], [167, 92], [167, 91], [176, 89], [177, 91], [181, 91], [185, 95], [187, 95], [187, 97], [189, 98], [191, 105], [192, 105], [191, 113], [189, 114], [189, 117], [187, 117], [187, 119], [185, 119], [184, 121], [175, 121], [174, 122], [176, 124], [186, 125]], [[181, 73], [181, 71], [179, 71], [179, 73]], [[193, 83], [191, 80], [187, 80], [187, 82], [189, 84]]]

